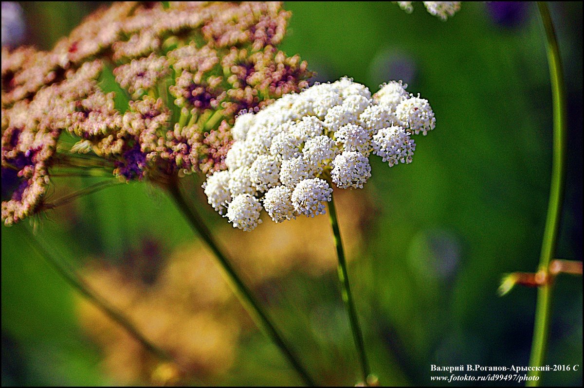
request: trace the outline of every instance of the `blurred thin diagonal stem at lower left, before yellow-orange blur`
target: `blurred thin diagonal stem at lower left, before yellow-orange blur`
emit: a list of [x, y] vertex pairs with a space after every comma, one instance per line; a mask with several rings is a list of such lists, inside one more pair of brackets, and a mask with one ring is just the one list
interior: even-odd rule
[[40, 243], [38, 237], [34, 236], [32, 232], [30, 232], [26, 228], [22, 228], [26, 235], [29, 237], [29, 242], [33, 246], [33, 249], [37, 251], [45, 260], [47, 260], [48, 264], [50, 264], [55, 271], [70, 285], [72, 288], [76, 289], [81, 295], [85, 296], [89, 300], [89, 302], [93, 303], [93, 305], [97, 306], [102, 312], [104, 312], [110, 319], [115, 321], [121, 327], [126, 329], [128, 333], [132, 337], [134, 337], [138, 342], [144, 346], [148, 351], [152, 354], [157, 356], [158, 358], [164, 361], [173, 361], [170, 355], [168, 355], [164, 350], [157, 347], [156, 345], [152, 344], [144, 334], [140, 333], [137, 327], [124, 315], [124, 313], [120, 312], [120, 310], [116, 309], [110, 305], [107, 300], [103, 299], [96, 293], [89, 284], [75, 271], [75, 268], [72, 267], [71, 264], [66, 263], [64, 260], [60, 258], [53, 257], [49, 250], [45, 249], [43, 244]]

